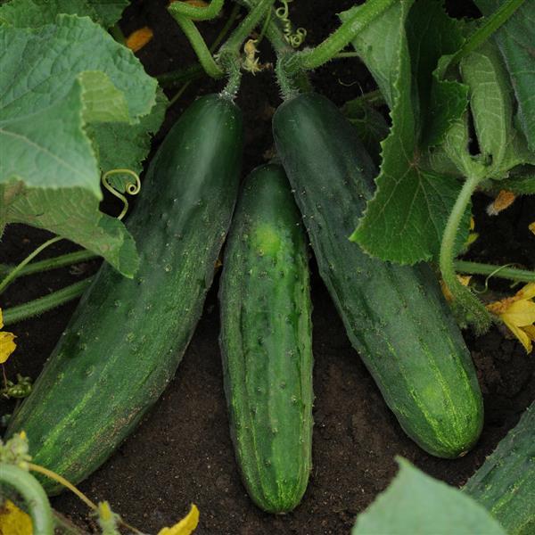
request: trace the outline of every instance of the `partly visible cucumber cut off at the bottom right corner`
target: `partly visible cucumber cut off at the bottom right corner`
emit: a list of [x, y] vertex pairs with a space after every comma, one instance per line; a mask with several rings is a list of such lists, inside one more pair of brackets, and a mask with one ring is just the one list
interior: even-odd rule
[[535, 402], [463, 490], [509, 535], [535, 533]]

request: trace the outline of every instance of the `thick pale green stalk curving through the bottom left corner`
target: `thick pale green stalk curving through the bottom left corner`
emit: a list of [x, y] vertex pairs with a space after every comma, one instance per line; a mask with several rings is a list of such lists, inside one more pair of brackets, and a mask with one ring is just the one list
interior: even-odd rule
[[53, 516], [45, 490], [37, 479], [15, 465], [0, 465], [0, 483], [15, 489], [28, 506], [34, 535], [53, 533]]

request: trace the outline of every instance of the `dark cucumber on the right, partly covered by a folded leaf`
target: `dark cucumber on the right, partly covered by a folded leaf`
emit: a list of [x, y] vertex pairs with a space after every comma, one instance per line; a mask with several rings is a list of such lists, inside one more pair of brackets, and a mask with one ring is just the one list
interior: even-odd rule
[[481, 391], [436, 279], [427, 266], [383, 263], [348, 241], [375, 175], [354, 128], [316, 94], [283, 103], [273, 127], [320, 274], [353, 347], [409, 437], [437, 457], [464, 454], [481, 433]]

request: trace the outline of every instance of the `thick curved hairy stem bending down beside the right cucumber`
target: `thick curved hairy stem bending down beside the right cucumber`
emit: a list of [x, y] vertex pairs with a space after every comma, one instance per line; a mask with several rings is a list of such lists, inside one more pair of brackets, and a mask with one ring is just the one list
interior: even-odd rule
[[468, 206], [472, 193], [483, 178], [479, 174], [473, 174], [466, 179], [453, 210], [449, 214], [444, 235], [442, 235], [442, 243], [440, 243], [440, 272], [442, 279], [447, 284], [455, 300], [465, 309], [468, 319], [470, 323], [473, 323], [477, 333], [483, 333], [490, 327], [490, 315], [481, 301], [473, 295], [473, 292], [463, 286], [457, 279], [454, 266], [454, 251], [457, 232], [461, 219], [465, 214], [466, 206]]

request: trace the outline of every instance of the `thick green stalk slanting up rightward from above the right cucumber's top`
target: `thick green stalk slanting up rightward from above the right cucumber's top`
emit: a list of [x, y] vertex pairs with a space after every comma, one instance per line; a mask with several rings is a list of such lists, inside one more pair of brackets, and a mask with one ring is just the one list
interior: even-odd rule
[[351, 40], [365, 29], [372, 21], [389, 9], [396, 0], [368, 0], [363, 4], [348, 21], [334, 31], [316, 48], [295, 53], [287, 62], [286, 69], [289, 75], [296, 74], [299, 70], [311, 70], [321, 67], [342, 51]]

